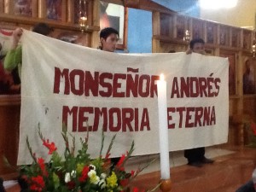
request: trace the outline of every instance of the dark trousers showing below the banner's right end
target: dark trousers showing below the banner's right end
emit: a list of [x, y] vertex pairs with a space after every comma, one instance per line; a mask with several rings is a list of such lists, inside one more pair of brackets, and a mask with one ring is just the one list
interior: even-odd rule
[[205, 148], [190, 148], [184, 150], [184, 156], [189, 163], [198, 162], [205, 158]]

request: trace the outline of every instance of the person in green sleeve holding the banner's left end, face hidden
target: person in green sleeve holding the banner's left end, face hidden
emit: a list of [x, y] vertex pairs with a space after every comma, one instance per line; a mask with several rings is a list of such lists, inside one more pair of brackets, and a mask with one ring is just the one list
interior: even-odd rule
[[[50, 36], [51, 32], [53, 32], [53, 28], [49, 27], [45, 23], [38, 23], [33, 27], [32, 32], [37, 32], [44, 36]], [[13, 72], [16, 68], [18, 69], [19, 77], [21, 79], [21, 59], [22, 59], [22, 49], [20, 45], [20, 38], [22, 36], [22, 29], [16, 28], [13, 32], [13, 39], [11, 49], [7, 52], [7, 55], [4, 59], [4, 68]]]

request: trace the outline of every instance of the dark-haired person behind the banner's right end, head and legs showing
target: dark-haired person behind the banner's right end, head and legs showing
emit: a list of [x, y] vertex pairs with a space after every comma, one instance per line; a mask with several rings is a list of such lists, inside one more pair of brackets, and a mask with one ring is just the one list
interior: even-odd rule
[[[190, 41], [187, 54], [198, 53], [206, 55], [205, 42], [201, 38], [195, 38]], [[201, 167], [203, 164], [212, 164], [214, 160], [205, 157], [205, 148], [190, 148], [184, 150], [184, 156], [188, 159], [189, 166]]]

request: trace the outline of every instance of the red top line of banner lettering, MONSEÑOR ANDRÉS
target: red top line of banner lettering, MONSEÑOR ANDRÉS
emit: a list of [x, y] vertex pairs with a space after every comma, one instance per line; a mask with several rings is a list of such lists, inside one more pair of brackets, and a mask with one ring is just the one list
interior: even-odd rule
[[[157, 96], [156, 80], [159, 76], [148, 74], [99, 73], [55, 67], [54, 93], [64, 95], [102, 97], [151, 97]], [[218, 96], [221, 80], [204, 77], [174, 77], [171, 98]]]

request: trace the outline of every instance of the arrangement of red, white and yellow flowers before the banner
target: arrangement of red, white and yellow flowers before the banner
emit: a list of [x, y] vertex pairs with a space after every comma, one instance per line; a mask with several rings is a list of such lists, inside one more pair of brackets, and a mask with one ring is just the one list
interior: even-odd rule
[[[75, 155], [75, 138], [73, 137], [73, 144], [70, 146], [67, 129], [63, 129], [62, 137], [66, 146], [63, 158], [58, 154], [55, 143], [49, 142], [48, 139], [43, 137], [40, 128], [38, 128], [38, 135], [44, 147], [49, 149], [49, 155], [51, 156], [48, 163], [45, 162], [44, 158], [37, 157], [32, 152], [28, 137], [26, 137], [26, 144], [32, 155], [33, 163], [30, 166], [20, 167], [20, 177], [26, 181], [27, 191], [125, 192], [130, 191], [131, 180], [146, 168], [145, 166], [139, 168], [136, 172], [125, 172], [125, 162], [131, 157], [134, 143], [131, 143], [130, 150], [126, 154], [122, 154], [116, 165], [111, 163], [109, 156], [115, 136], [113, 136], [108, 151], [103, 157], [103, 132], [101, 152], [99, 157], [94, 160], [90, 159], [90, 154], [87, 153], [89, 133], [87, 133], [84, 140], [80, 138], [82, 148]], [[156, 186], [155, 189], [158, 187]], [[141, 192], [145, 190], [134, 187], [131, 191]]]

